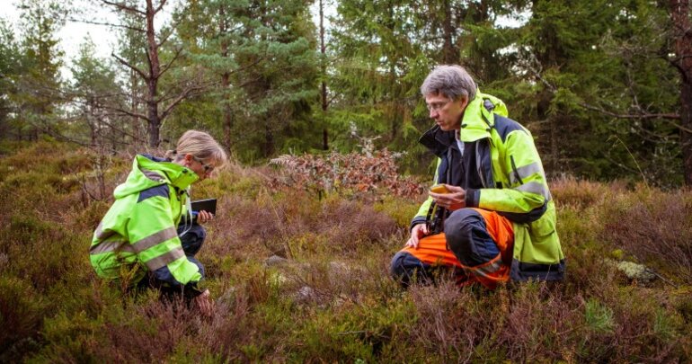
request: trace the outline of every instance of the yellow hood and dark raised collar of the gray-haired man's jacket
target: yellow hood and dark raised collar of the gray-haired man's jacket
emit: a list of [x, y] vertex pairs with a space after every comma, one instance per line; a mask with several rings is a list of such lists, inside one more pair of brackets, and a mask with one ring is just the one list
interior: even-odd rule
[[[475, 98], [468, 102], [461, 120], [459, 138], [463, 142], [473, 142], [490, 138], [490, 130], [495, 125], [493, 113], [507, 117], [507, 106], [495, 96], [476, 90]], [[443, 131], [435, 125], [419, 139], [435, 155], [441, 155], [455, 142], [454, 130]]]

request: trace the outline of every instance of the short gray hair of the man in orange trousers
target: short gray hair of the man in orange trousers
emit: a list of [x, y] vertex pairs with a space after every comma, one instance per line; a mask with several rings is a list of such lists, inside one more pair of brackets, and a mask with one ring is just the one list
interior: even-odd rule
[[442, 65], [435, 67], [430, 74], [425, 77], [421, 85], [423, 96], [429, 94], [442, 93], [452, 100], [457, 100], [459, 96], [467, 97], [469, 101], [474, 100], [477, 86], [471, 75], [461, 66]]

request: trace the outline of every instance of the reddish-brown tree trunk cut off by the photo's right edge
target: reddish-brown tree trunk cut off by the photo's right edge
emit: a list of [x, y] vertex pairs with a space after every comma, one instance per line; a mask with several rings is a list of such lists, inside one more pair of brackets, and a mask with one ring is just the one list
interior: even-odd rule
[[692, 187], [692, 29], [689, 22], [689, 0], [671, 0], [675, 66], [680, 72], [680, 147], [685, 184]]

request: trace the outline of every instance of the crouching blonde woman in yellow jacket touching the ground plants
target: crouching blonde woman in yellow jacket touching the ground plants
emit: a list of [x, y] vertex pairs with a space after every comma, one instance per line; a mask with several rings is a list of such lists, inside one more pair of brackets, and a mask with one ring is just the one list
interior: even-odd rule
[[198, 287], [204, 267], [194, 258], [206, 233], [193, 221], [213, 216], [200, 211], [192, 218], [190, 186], [212, 177], [226, 160], [217, 141], [198, 130], [182, 134], [165, 158], [137, 155], [93, 233], [90, 260], [96, 273], [127, 289], [154, 287], [169, 297], [179, 292], [210, 314], [209, 292]]

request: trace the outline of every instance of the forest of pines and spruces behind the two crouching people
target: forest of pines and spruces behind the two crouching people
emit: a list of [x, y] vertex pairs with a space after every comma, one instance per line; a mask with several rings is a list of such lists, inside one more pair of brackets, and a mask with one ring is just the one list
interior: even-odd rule
[[[88, 4], [88, 6], [87, 6]], [[57, 32], [117, 15], [110, 58]], [[22, 0], [0, 22], [0, 138], [115, 153], [206, 129], [245, 164], [406, 151], [431, 125], [418, 88], [460, 64], [530, 129], [551, 177], [692, 184], [688, 1]], [[167, 12], [167, 13], [166, 13]], [[165, 16], [164, 16], [165, 14]], [[163, 22], [163, 26], [154, 26]], [[102, 45], [100, 45], [102, 46]], [[61, 67], [71, 77], [61, 76]]]

